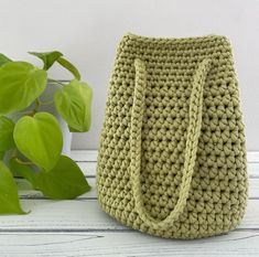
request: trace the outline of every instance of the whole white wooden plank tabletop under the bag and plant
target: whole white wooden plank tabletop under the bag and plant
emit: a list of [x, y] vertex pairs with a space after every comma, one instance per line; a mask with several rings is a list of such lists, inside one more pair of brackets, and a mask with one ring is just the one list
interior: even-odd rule
[[74, 201], [50, 201], [18, 179], [29, 215], [0, 216], [0, 257], [259, 256], [259, 152], [248, 153], [250, 192], [242, 224], [228, 235], [163, 239], [117, 223], [97, 204], [96, 151], [73, 151], [93, 190]]

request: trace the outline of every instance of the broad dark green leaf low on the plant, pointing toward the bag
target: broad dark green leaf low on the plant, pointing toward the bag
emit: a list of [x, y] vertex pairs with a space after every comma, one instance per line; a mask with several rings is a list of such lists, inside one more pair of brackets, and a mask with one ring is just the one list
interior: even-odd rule
[[75, 199], [90, 190], [79, 167], [65, 156], [61, 156], [51, 171], [41, 171], [37, 182], [39, 189], [50, 199]]

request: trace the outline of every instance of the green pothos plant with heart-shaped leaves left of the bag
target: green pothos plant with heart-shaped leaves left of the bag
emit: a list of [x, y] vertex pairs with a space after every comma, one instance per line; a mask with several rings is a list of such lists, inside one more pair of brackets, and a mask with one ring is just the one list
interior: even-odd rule
[[[61, 52], [30, 54], [43, 61], [42, 68], [0, 54], [0, 214], [26, 213], [20, 205], [17, 175], [55, 200], [75, 199], [90, 190], [79, 167], [62, 154], [63, 135], [57, 119], [41, 107], [54, 105], [69, 131], [88, 131], [91, 88]], [[55, 62], [72, 73], [69, 83], [47, 76]], [[46, 103], [41, 96], [48, 82], [58, 89]], [[18, 120], [12, 118], [15, 115]]]

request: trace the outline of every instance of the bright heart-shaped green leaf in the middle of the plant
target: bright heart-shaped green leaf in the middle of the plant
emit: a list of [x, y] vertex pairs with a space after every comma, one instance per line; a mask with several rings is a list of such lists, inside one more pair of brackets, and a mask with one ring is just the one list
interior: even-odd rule
[[13, 131], [18, 149], [32, 162], [51, 170], [60, 159], [63, 138], [56, 118], [47, 113], [18, 120]]

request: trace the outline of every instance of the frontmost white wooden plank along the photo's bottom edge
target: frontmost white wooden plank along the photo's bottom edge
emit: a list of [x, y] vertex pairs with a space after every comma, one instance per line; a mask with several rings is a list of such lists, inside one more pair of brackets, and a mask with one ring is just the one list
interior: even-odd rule
[[236, 231], [196, 240], [163, 239], [138, 232], [0, 234], [1, 256], [259, 256], [259, 232]]

